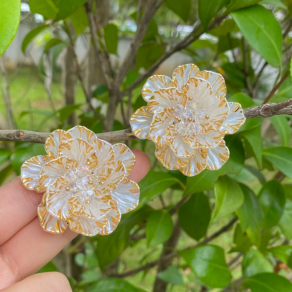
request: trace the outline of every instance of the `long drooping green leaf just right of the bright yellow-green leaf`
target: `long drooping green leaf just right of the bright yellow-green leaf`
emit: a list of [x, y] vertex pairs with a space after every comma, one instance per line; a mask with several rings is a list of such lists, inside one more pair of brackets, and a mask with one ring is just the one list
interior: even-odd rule
[[242, 184], [240, 187], [244, 194], [243, 204], [237, 210], [240, 225], [242, 231], [246, 232], [251, 241], [256, 246], [259, 246], [261, 241], [260, 232], [264, 225], [264, 213], [253, 191]]

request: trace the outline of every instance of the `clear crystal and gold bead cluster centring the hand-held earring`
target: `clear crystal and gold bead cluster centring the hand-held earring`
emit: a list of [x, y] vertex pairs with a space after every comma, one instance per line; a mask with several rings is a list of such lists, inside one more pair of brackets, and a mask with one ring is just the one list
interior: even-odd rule
[[88, 201], [90, 202], [90, 199], [95, 196], [94, 188], [99, 180], [87, 166], [79, 165], [77, 168], [70, 168], [64, 176], [70, 184], [68, 192], [72, 192], [72, 195], [78, 193], [81, 201], [88, 204]]

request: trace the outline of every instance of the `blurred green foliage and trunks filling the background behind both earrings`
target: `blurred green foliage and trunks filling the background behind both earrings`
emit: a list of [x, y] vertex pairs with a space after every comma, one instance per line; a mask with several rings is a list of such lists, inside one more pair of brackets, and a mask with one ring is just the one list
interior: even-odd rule
[[[147, 78], [187, 63], [222, 74], [227, 99], [244, 108], [288, 100], [291, 13], [290, 0], [22, 1], [0, 57], [0, 129], [128, 128]], [[65, 273], [78, 292], [246, 291], [262, 272], [291, 280], [291, 116], [250, 119], [225, 138], [230, 160], [193, 178], [163, 168], [153, 142], [126, 141], [152, 163], [138, 208], [109, 236], [78, 236], [40, 272]], [[36, 143], [0, 147], [0, 184], [45, 154]]]

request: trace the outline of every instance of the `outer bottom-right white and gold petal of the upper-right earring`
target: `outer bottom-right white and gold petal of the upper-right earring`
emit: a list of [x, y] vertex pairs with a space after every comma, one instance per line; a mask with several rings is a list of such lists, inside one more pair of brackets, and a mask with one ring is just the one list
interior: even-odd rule
[[206, 169], [217, 170], [229, 158], [229, 149], [226, 147], [224, 140], [217, 147], [201, 149], [201, 151], [208, 154]]

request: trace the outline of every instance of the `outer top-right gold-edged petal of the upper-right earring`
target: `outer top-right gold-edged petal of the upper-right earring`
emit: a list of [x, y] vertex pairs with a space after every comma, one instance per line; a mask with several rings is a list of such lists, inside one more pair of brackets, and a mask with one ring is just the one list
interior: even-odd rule
[[207, 80], [210, 83], [215, 96], [226, 96], [227, 89], [225, 80], [221, 74], [204, 70], [199, 72], [196, 77]]

